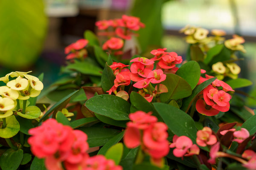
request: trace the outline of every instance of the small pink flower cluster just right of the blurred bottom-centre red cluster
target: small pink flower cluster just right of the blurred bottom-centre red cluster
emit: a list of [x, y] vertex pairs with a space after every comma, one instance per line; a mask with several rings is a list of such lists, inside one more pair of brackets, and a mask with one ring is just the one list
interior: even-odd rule
[[178, 158], [183, 158], [183, 156], [198, 155], [200, 152], [199, 147], [193, 144], [192, 140], [187, 136], [173, 136], [172, 144], [169, 147], [175, 148], [173, 150], [173, 155]]

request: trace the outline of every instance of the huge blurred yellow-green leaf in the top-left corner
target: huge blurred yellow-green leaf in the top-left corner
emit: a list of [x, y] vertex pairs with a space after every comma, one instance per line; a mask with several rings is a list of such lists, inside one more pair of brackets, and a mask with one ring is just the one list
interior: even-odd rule
[[39, 57], [47, 31], [44, 1], [1, 0], [0, 18], [1, 65], [28, 68]]

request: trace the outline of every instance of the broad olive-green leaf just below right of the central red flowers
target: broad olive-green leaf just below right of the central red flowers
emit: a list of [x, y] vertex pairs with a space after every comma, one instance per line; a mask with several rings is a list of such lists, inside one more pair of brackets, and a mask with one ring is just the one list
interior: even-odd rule
[[160, 94], [161, 102], [170, 102], [171, 99], [182, 99], [191, 95], [192, 89], [185, 79], [176, 74], [166, 74], [166, 80], [161, 82], [168, 88], [167, 93]]

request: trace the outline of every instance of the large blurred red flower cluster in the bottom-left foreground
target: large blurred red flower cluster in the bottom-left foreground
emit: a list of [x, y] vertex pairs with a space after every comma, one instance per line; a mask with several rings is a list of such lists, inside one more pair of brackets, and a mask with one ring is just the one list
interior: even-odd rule
[[87, 135], [55, 119], [47, 119], [41, 126], [30, 129], [29, 134], [32, 153], [44, 158], [49, 170], [63, 170], [62, 164], [66, 170], [122, 170], [104, 156], [89, 157]]

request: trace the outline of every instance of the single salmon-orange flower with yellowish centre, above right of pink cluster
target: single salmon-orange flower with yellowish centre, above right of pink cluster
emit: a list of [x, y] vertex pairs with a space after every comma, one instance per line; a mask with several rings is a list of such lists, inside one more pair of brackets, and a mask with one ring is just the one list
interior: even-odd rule
[[212, 129], [209, 127], [204, 127], [202, 130], [198, 130], [196, 136], [196, 143], [202, 147], [212, 145], [217, 142], [216, 136], [212, 134]]

